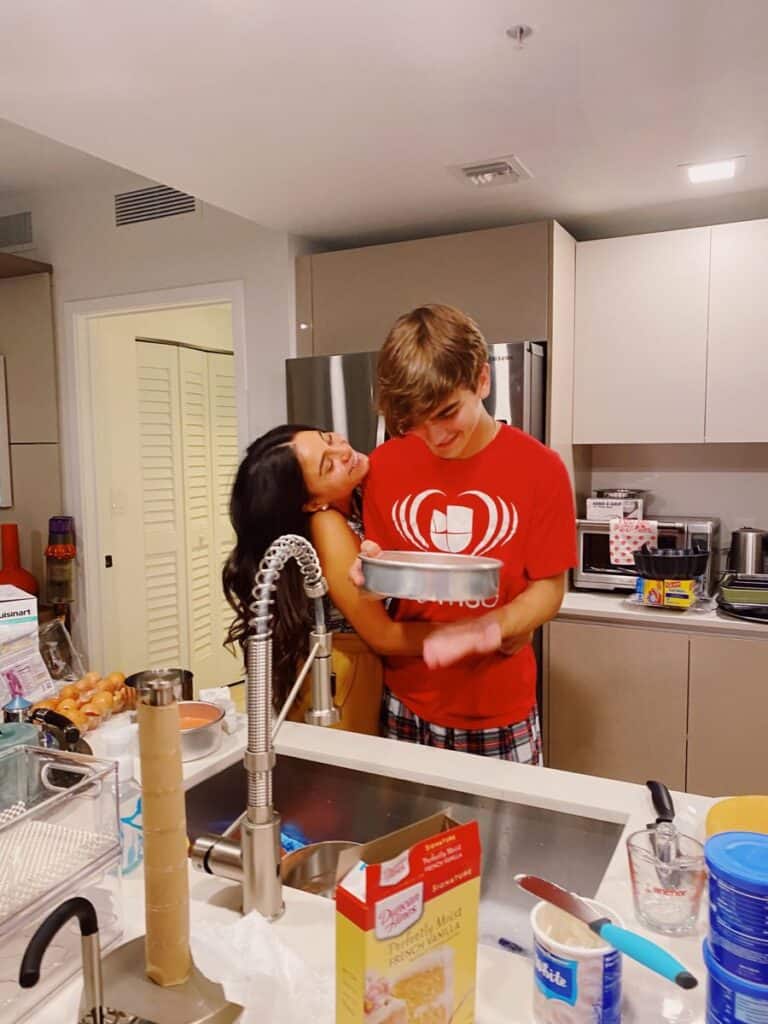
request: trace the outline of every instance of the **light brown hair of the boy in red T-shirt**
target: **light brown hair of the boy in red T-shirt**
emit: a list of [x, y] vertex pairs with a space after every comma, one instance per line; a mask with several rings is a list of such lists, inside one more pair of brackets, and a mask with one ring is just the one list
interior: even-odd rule
[[401, 437], [457, 388], [477, 387], [488, 348], [475, 322], [454, 306], [400, 316], [379, 353], [377, 399], [387, 430]]

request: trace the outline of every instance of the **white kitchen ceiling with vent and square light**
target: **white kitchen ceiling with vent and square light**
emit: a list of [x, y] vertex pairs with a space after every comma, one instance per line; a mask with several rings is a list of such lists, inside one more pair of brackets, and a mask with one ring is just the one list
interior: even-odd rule
[[[0, 9], [0, 117], [329, 246], [589, 238], [768, 216], [766, 34], [766, 0], [37, 0]], [[531, 180], [449, 170], [508, 154]]]

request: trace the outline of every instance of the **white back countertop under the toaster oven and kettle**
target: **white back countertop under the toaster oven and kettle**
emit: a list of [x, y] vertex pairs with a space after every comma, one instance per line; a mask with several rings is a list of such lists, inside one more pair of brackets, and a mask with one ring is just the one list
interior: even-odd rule
[[768, 623], [750, 623], [724, 615], [719, 608], [710, 611], [676, 611], [673, 608], [649, 608], [630, 604], [627, 594], [570, 590], [565, 595], [557, 615], [564, 622], [606, 622], [622, 626], [652, 627], [659, 630], [680, 630], [684, 633], [722, 634], [724, 636], [764, 638], [768, 640]]

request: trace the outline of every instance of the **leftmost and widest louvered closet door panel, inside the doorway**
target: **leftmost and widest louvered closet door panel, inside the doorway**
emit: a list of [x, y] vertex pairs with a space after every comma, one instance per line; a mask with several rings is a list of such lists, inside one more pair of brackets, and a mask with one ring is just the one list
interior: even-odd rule
[[177, 350], [136, 342], [136, 388], [146, 616], [145, 664], [138, 668], [183, 668], [188, 632]]

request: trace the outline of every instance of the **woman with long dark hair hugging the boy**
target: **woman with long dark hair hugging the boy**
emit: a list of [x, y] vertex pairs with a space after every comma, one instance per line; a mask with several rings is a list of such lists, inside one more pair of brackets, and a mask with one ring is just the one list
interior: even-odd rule
[[[287, 424], [255, 440], [240, 465], [229, 514], [236, 545], [222, 573], [224, 593], [234, 611], [227, 640], [245, 645], [249, 605], [259, 563], [269, 545], [284, 534], [311, 541], [329, 585], [333, 605], [334, 670], [342, 728], [378, 732], [382, 688], [376, 655], [417, 655], [434, 626], [396, 623], [381, 601], [361, 595], [349, 580], [359, 553], [360, 492], [368, 456], [354, 452], [336, 433]], [[301, 574], [290, 561], [280, 575], [272, 624], [275, 709], [293, 684], [307, 655], [312, 609]], [[301, 719], [306, 703], [297, 700], [292, 717]]]

